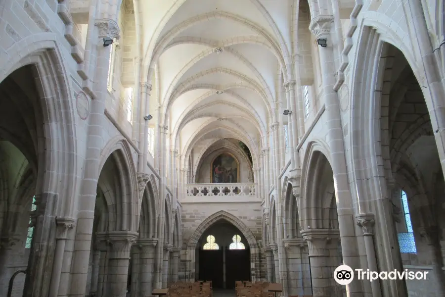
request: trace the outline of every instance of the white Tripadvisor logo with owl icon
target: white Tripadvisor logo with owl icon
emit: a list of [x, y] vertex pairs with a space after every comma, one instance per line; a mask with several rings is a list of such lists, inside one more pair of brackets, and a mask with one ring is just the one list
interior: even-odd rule
[[[358, 280], [426, 280], [428, 271], [370, 271], [369, 269], [356, 269]], [[340, 265], [334, 271], [334, 280], [343, 286], [349, 285], [354, 280], [354, 270], [348, 265]]]

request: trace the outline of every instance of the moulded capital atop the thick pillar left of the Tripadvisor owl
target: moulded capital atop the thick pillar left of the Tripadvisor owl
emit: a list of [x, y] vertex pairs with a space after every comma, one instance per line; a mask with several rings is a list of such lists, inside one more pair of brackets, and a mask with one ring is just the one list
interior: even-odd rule
[[304, 229], [301, 235], [308, 242], [310, 256], [328, 256], [328, 244], [339, 237], [338, 229]]

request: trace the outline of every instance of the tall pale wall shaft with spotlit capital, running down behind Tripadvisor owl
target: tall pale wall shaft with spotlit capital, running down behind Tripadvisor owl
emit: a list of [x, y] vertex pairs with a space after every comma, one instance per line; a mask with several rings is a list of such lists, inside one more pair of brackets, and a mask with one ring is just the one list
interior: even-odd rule
[[[319, 2], [326, 4], [326, 2]], [[327, 11], [328, 7], [321, 7], [319, 11]], [[330, 153], [335, 156], [331, 158], [331, 167], [336, 181], [335, 196], [337, 201], [338, 223], [340, 226], [340, 237], [343, 249], [343, 259], [346, 265], [352, 269], [359, 268], [360, 257], [356, 242], [354, 228], [349, 228], [354, 223], [354, 206], [347, 176], [346, 156], [343, 139], [343, 128], [338, 95], [334, 92], [335, 67], [334, 52], [330, 30], [333, 26], [334, 17], [332, 15], [316, 15], [312, 18], [310, 30], [316, 39], [325, 38], [327, 47], [318, 47], [321, 67], [321, 80], [323, 83], [324, 104], [326, 107], [325, 122], [327, 123], [326, 142], [329, 144]], [[309, 226], [311, 226], [310, 224]], [[348, 248], [346, 248], [348, 247]], [[311, 259], [312, 260], [312, 259]], [[351, 296], [362, 296], [363, 290], [361, 282], [352, 282], [346, 286], [347, 292]]]

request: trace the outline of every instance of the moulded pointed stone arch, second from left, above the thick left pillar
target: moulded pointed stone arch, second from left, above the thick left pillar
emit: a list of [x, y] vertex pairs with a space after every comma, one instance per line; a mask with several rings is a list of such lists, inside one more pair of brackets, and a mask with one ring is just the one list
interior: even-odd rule
[[[137, 179], [130, 146], [121, 136], [111, 139], [101, 153], [99, 161], [98, 186], [104, 193], [104, 198], [110, 211], [110, 230], [137, 231], [139, 214], [137, 213], [139, 198], [137, 197]], [[115, 168], [114, 174], [104, 170], [105, 167]], [[105, 191], [108, 189], [110, 191]], [[114, 193], [115, 189], [117, 192]]]

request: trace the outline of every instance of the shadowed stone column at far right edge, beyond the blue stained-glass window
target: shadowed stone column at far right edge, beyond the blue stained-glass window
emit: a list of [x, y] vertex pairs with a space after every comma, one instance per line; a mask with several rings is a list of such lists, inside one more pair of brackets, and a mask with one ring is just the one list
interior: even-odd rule
[[442, 270], [443, 258], [442, 247], [439, 240], [440, 232], [442, 231], [437, 226], [420, 227], [419, 233], [423, 241], [428, 245], [429, 253], [431, 254], [433, 277], [436, 279], [436, 295], [438, 297], [445, 296], [445, 275]]

